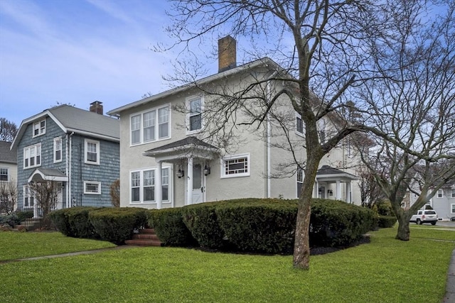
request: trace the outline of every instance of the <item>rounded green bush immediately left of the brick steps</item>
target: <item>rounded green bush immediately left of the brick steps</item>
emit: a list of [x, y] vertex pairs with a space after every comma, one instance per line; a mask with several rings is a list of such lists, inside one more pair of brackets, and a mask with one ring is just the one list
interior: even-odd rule
[[105, 208], [89, 211], [88, 218], [103, 240], [123, 244], [132, 237], [134, 229], [147, 224], [146, 209]]

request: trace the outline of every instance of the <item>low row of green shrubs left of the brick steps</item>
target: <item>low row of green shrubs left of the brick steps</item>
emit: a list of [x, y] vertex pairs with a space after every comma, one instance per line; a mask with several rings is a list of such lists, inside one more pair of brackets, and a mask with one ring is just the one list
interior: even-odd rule
[[146, 226], [147, 210], [141, 208], [95, 208], [89, 206], [59, 209], [48, 216], [58, 231], [75, 238], [100, 238], [122, 244], [134, 229]]

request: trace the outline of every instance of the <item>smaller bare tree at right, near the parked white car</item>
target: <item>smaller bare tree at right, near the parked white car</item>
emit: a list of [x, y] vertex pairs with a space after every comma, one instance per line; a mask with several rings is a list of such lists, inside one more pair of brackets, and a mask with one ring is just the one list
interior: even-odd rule
[[[408, 18], [398, 18], [400, 11]], [[455, 4], [424, 19], [424, 6], [390, 6], [387, 35], [370, 42], [376, 79], [358, 92], [375, 148], [364, 155], [399, 222], [397, 239], [409, 240], [409, 220], [455, 176]], [[417, 184], [417, 189], [413, 185]], [[406, 190], [417, 202], [402, 209]]]

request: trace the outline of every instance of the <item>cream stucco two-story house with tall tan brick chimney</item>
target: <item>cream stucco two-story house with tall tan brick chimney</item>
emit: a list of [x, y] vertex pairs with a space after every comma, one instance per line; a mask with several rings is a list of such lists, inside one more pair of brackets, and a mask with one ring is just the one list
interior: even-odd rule
[[[225, 45], [228, 41], [227, 47]], [[230, 36], [218, 41], [219, 72], [200, 79], [198, 86], [225, 87], [239, 90], [252, 82], [253, 77], [271, 77], [280, 67], [263, 58], [236, 67], [235, 40]], [[254, 75], [254, 76], [252, 76]], [[279, 88], [282, 82], [269, 80], [270, 87]], [[282, 178], [272, 178], [279, 173], [282, 162], [293, 162], [291, 153], [278, 148], [283, 137], [277, 128], [237, 126], [236, 138], [240, 144], [235, 151], [227, 152], [215, 146], [215, 141], [204, 138], [204, 128], [209, 121], [203, 109], [213, 101], [195, 85], [175, 89], [135, 101], [109, 111], [107, 114], [120, 119], [120, 205], [146, 208], [184, 206], [221, 199], [247, 197], [282, 197], [295, 199], [304, 179], [304, 172], [294, 164], [294, 172]], [[184, 106], [187, 112], [176, 110]], [[296, 155], [304, 160], [306, 151], [304, 126], [294, 109], [289, 121], [294, 130], [291, 139], [299, 143]], [[240, 120], [242, 112], [238, 110]], [[321, 140], [331, 128], [330, 121], [321, 121]], [[262, 139], [263, 138], [263, 139]], [[300, 147], [299, 147], [300, 145]], [[348, 141], [323, 158], [316, 177], [314, 197], [342, 199], [360, 204], [360, 189], [352, 182], [357, 180], [351, 167], [340, 170], [355, 159]], [[338, 169], [337, 169], [338, 168]]]

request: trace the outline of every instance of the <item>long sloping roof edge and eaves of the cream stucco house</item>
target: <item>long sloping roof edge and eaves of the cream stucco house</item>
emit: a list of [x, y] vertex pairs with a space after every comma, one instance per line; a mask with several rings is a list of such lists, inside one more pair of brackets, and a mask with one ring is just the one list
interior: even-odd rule
[[212, 81], [215, 81], [218, 79], [222, 79], [225, 77], [229, 77], [231, 75], [235, 75], [238, 72], [243, 72], [245, 70], [250, 70], [255, 67], [261, 67], [261, 66], [268, 67], [270, 70], [282, 70], [282, 67], [279, 67], [279, 65], [277, 65], [277, 63], [274, 62], [272, 59], [270, 59], [269, 57], [263, 57], [262, 59], [255, 60], [255, 61], [246, 63], [244, 65], [240, 65], [238, 67], [232, 68], [231, 70], [227, 70], [225, 72], [218, 72], [218, 74], [210, 75], [203, 79], [196, 80], [195, 82], [183, 84], [180, 87], [175, 87], [175, 88], [169, 89], [165, 92], [161, 92], [159, 94], [154, 94], [151, 97], [147, 97], [147, 98], [141, 99], [139, 101], [134, 101], [130, 104], [117, 107], [117, 109], [112, 109], [111, 111], [108, 111], [106, 114], [108, 114], [109, 116], [118, 116], [121, 111], [125, 111], [127, 109], [132, 109], [134, 107], [141, 106], [141, 105], [149, 103], [151, 101], [156, 101], [158, 99], [168, 97], [173, 94], [178, 94], [180, 92], [184, 92], [184, 91], [186, 91], [186, 89], [191, 89], [192, 87], [200, 86], [202, 84], [207, 84], [209, 82], [212, 82]]

